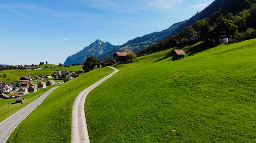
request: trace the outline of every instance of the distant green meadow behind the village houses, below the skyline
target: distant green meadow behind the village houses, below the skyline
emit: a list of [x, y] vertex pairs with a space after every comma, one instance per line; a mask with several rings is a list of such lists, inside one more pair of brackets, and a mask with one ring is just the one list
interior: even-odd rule
[[[45, 68], [46, 65], [49, 66], [55, 66], [56, 68]], [[68, 70], [68, 71], [78, 71], [78, 70], [83, 70], [82, 66], [70, 66], [70, 67], [58, 67], [58, 65], [55, 64], [43, 64], [40, 66], [41, 70], [2, 70], [0, 71], [0, 81], [6, 81], [7, 79], [10, 79], [8, 82], [12, 82], [15, 80], [20, 79], [22, 76], [32, 76], [36, 77], [39, 74], [42, 75], [51, 75], [55, 70]], [[3, 74], [6, 73], [7, 77], [3, 78]]]

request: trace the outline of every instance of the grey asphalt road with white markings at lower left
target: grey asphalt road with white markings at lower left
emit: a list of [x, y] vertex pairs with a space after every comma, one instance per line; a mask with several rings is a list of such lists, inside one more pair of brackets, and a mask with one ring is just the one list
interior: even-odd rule
[[[35, 101], [31, 102], [26, 107], [20, 109], [20, 111], [16, 112], [11, 117], [0, 123], [0, 143], [5, 143], [18, 124], [23, 121], [36, 107], [38, 107], [38, 105], [40, 105], [44, 99], [56, 88], [58, 88], [58, 86], [48, 90], [39, 98], [35, 99]], [[26, 103], [26, 99], [24, 103]]]

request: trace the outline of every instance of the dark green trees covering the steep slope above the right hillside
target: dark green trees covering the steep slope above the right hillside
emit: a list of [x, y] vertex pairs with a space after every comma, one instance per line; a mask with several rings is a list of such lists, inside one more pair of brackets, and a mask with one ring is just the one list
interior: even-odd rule
[[[235, 8], [236, 9], [236, 8]], [[137, 55], [147, 54], [148, 51], [161, 51], [166, 48], [186, 45], [193, 42], [192, 38], [198, 33], [201, 35], [197, 41], [207, 41], [210, 31], [218, 25], [226, 26], [236, 41], [256, 38], [256, 0], [245, 0], [243, 10], [234, 13], [227, 13], [227, 9], [219, 8], [211, 16], [198, 20], [190, 26], [186, 26], [176, 35], [170, 36], [165, 40], [140, 50]]]

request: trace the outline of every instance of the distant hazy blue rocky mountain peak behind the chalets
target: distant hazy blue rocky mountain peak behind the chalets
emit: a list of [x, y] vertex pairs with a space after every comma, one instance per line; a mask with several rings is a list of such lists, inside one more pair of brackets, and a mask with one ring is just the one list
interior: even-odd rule
[[67, 57], [66, 61], [64, 62], [65, 65], [70, 65], [74, 63], [81, 63], [85, 62], [86, 58], [89, 56], [100, 56], [104, 53], [107, 53], [109, 50], [112, 50], [116, 46], [112, 45], [109, 42], [102, 42], [101, 40], [96, 40], [89, 46], [85, 47], [83, 50], [79, 51], [78, 53]]

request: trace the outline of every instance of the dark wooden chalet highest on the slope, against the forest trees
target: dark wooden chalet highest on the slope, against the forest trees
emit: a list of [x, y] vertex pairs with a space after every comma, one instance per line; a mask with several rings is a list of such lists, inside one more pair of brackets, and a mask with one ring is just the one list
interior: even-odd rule
[[228, 42], [231, 40], [231, 32], [227, 26], [218, 25], [210, 32], [213, 43], [217, 42]]

